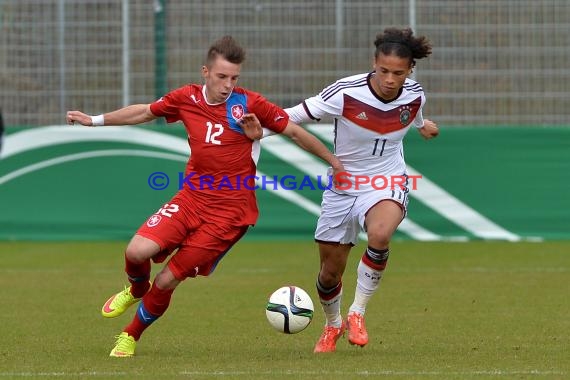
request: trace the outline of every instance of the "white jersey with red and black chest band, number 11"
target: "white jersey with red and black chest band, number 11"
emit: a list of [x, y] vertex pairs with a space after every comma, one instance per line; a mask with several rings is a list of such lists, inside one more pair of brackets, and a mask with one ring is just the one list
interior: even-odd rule
[[423, 126], [422, 107], [426, 98], [419, 83], [406, 79], [402, 92], [391, 102], [380, 99], [372, 90], [370, 77], [363, 73], [340, 79], [306, 99], [301, 105], [286, 109], [291, 121], [300, 124], [329, 116], [334, 118], [335, 155], [350, 173], [361, 178], [360, 186], [345, 188], [358, 194], [376, 190], [365, 178], [406, 175], [402, 140], [410, 126]]

